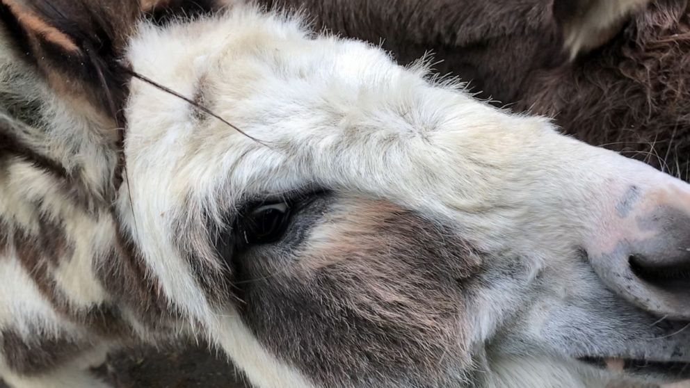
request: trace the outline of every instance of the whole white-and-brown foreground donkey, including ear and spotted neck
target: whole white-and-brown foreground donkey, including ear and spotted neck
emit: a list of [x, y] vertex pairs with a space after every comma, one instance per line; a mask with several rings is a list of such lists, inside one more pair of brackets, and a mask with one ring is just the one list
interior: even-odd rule
[[133, 336], [262, 388], [690, 375], [688, 184], [296, 17], [80, 4], [0, 1], [12, 387]]

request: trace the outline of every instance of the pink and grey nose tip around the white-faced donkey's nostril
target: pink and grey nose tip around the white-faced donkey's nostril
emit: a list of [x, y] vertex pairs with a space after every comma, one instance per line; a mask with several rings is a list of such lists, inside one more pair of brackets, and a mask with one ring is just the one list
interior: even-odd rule
[[588, 254], [623, 298], [659, 317], [690, 320], [690, 186], [662, 181], [630, 186]]

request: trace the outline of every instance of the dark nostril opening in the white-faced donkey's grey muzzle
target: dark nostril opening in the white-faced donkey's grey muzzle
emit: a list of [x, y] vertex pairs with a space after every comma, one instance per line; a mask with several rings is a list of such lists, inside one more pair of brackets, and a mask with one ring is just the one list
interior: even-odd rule
[[628, 257], [628, 264], [643, 282], [673, 294], [690, 296], [690, 261], [664, 263], [633, 254]]

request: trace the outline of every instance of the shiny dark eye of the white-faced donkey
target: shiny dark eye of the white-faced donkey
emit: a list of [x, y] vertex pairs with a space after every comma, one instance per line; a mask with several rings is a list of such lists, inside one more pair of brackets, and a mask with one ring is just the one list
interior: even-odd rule
[[287, 229], [290, 205], [287, 202], [262, 204], [252, 209], [241, 221], [240, 239], [246, 245], [278, 241]]

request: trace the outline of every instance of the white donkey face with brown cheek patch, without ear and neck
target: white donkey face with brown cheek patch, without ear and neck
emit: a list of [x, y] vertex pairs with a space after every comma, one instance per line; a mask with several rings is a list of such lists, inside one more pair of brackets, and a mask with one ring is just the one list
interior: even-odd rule
[[252, 8], [128, 41], [115, 213], [156, 300], [109, 290], [142, 332], [198, 332], [259, 387], [591, 387], [621, 378], [592, 363], [690, 362], [687, 184]]

